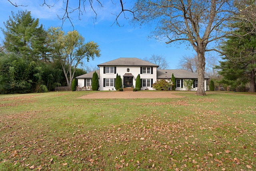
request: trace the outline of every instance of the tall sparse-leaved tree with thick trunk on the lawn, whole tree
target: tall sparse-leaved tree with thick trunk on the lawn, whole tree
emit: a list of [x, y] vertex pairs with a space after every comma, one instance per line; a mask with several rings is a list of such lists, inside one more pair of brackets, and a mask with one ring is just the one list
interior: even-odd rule
[[[210, 43], [226, 36], [222, 29], [232, 21], [237, 12], [230, 0], [137, 0], [134, 5], [138, 24], [148, 24], [152, 36], [191, 45], [198, 56], [198, 89], [196, 95], [206, 95], [204, 90], [205, 52], [216, 50]], [[135, 20], [136, 21], [136, 20]], [[137, 22], [135, 22], [137, 23]]]

